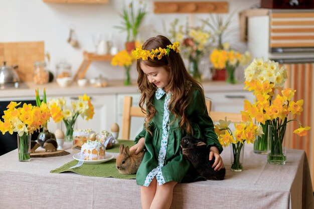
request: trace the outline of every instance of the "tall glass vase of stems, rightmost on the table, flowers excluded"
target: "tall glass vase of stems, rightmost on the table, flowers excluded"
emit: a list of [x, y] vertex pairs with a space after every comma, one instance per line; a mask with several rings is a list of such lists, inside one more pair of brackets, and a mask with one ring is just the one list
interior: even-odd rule
[[273, 165], [284, 165], [286, 162], [287, 136], [286, 126], [268, 125], [267, 162]]

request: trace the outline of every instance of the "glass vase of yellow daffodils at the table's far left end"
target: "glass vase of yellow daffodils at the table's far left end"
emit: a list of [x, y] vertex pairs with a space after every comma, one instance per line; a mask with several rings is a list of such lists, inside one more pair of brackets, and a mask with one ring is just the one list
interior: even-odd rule
[[43, 127], [50, 118], [50, 111], [46, 103], [42, 102], [40, 107], [24, 103], [10, 102], [4, 111], [4, 121], [0, 120], [0, 131], [5, 134], [9, 132], [18, 133], [19, 161], [31, 160], [31, 134]]

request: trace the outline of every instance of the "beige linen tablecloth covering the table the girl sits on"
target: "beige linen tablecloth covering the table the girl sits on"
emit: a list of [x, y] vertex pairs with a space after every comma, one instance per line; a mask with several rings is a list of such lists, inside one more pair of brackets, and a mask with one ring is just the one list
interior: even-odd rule
[[[32, 158], [30, 162], [19, 162], [17, 150], [0, 156], [0, 208], [141, 207], [139, 186], [134, 179], [49, 172], [72, 160], [72, 155]], [[222, 157], [225, 180], [178, 184], [172, 209], [314, 208], [304, 150], [290, 149], [285, 165], [269, 165], [266, 155], [257, 155], [252, 146], [246, 145], [242, 172], [230, 170], [228, 148]]]

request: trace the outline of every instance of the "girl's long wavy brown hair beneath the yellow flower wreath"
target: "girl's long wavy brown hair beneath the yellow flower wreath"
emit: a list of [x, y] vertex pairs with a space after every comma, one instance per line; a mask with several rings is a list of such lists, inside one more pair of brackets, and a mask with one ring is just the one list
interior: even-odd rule
[[[168, 45], [171, 45], [171, 41], [164, 36], [156, 36], [149, 38], [142, 46], [143, 50], [150, 51], [151, 49], [158, 49], [159, 47], [166, 49]], [[179, 48], [180, 49], [180, 48]], [[175, 115], [175, 120], [181, 117], [179, 125], [180, 128], [185, 130], [188, 134], [193, 134], [191, 123], [186, 115], [186, 108], [191, 102], [192, 91], [199, 89], [204, 97], [204, 91], [201, 88], [201, 84], [195, 81], [188, 73], [180, 53], [176, 53], [171, 50], [169, 56], [165, 55], [162, 59], [150, 59], [137, 60], [136, 69], [138, 72], [137, 85], [140, 92], [139, 106], [144, 110], [143, 106], [146, 103], [147, 116], [145, 120], [145, 128], [148, 130], [148, 124], [152, 120], [156, 113], [156, 109], [152, 105], [154, 92], [157, 87], [149, 83], [147, 76], [140, 68], [140, 63], [150, 67], [165, 66], [169, 71], [169, 83], [165, 86], [169, 92], [172, 93], [172, 97], [169, 102], [169, 110]], [[189, 88], [193, 86], [193, 88]], [[146, 102], [145, 102], [146, 101]], [[174, 121], [172, 121], [174, 122]]]

